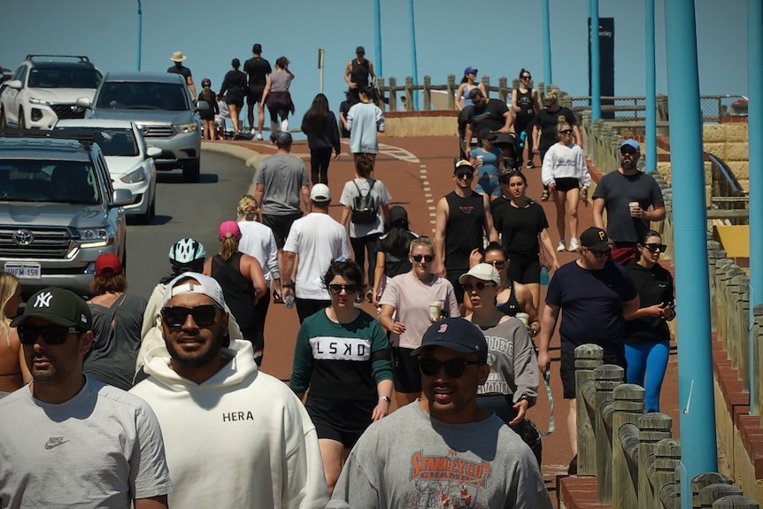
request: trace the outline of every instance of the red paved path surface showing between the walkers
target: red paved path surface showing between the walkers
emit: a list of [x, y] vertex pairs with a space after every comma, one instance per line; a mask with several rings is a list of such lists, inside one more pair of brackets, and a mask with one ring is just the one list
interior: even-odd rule
[[[420, 137], [420, 138], [380, 138], [380, 143], [389, 146], [382, 147], [377, 158], [374, 177], [382, 180], [392, 195], [392, 204], [405, 206], [408, 211], [411, 229], [420, 235], [432, 235], [434, 228], [434, 207], [437, 200], [453, 189], [453, 157], [458, 155], [458, 141], [451, 136]], [[263, 154], [274, 151], [270, 143], [238, 143], [257, 150]], [[402, 149], [402, 150], [401, 150]], [[343, 150], [348, 150], [343, 144]], [[308, 149], [306, 142], [294, 144], [292, 153], [303, 157], [308, 166]], [[412, 160], [411, 156], [414, 156]], [[537, 164], [537, 158], [536, 158]], [[542, 186], [540, 169], [524, 170], [528, 177], [528, 196], [539, 198]], [[343, 152], [339, 161], [333, 161], [328, 170], [329, 188], [334, 204], [330, 213], [339, 220], [341, 205], [338, 204], [345, 181], [354, 175], [352, 158], [348, 152]], [[428, 196], [430, 195], [430, 196]], [[428, 201], [429, 200], [429, 201]], [[541, 202], [542, 203], [542, 202]], [[546, 216], [551, 224], [551, 241], [556, 246], [559, 235], [556, 231], [556, 209], [551, 202], [542, 203]], [[590, 206], [581, 207], [579, 212], [579, 228], [582, 231], [591, 226]], [[577, 258], [575, 253], [559, 253], [559, 262], [564, 264]], [[545, 295], [545, 288], [541, 300]], [[374, 313], [371, 305], [364, 305], [367, 312]], [[299, 328], [297, 312], [286, 310], [281, 305], [271, 305], [266, 323], [266, 355], [262, 369], [274, 374], [282, 380], [288, 380], [291, 374], [291, 360], [294, 351], [295, 338]], [[566, 426], [566, 410], [568, 402], [562, 399], [562, 387], [559, 380], [559, 336], [551, 340], [551, 390], [555, 403], [556, 431], [551, 436], [543, 438], [543, 477], [546, 486], [551, 491], [551, 499], [557, 505], [556, 479], [566, 474], [567, 465], [573, 453], [569, 445]], [[665, 385], [662, 390], [660, 408], [669, 414], [674, 422], [674, 436], [678, 437], [678, 390], [677, 390], [677, 360], [674, 348], [671, 351], [670, 363], [667, 368]], [[549, 404], [543, 388], [539, 389], [537, 405], [530, 409], [529, 417], [539, 428], [548, 427]]]

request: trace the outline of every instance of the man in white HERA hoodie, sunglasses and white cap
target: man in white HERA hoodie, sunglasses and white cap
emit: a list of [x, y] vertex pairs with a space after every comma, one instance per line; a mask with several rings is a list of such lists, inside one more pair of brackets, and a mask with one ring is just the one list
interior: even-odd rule
[[146, 352], [149, 377], [131, 389], [166, 437], [169, 503], [322, 508], [328, 489], [312, 421], [285, 384], [258, 372], [249, 342], [223, 347], [224, 307], [211, 277], [170, 281], [161, 312], [166, 344]]

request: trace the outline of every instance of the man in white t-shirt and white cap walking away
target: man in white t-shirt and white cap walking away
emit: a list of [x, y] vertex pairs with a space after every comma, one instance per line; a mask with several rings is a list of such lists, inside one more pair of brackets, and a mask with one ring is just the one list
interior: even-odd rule
[[[286, 299], [289, 295], [296, 297], [299, 323], [331, 304], [323, 276], [333, 260], [339, 257], [350, 258], [347, 232], [328, 215], [328, 205], [331, 204], [328, 186], [312, 186], [310, 200], [312, 212], [294, 221], [283, 246], [283, 298]], [[297, 281], [291, 281], [295, 265]]]

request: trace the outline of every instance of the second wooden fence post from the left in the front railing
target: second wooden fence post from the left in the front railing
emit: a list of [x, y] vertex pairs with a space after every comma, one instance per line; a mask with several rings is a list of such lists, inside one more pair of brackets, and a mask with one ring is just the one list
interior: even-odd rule
[[599, 504], [612, 504], [612, 448], [614, 388], [625, 379], [620, 366], [605, 364], [594, 370], [596, 378], [596, 485]]

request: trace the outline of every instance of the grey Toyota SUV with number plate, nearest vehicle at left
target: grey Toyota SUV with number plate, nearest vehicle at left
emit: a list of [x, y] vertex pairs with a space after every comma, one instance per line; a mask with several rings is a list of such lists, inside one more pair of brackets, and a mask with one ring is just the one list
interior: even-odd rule
[[0, 131], [0, 268], [25, 294], [59, 286], [89, 295], [98, 255], [125, 258], [122, 205], [132, 193], [112, 188], [97, 143], [54, 133]]

